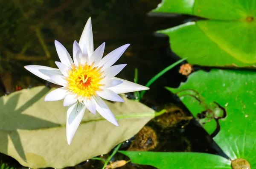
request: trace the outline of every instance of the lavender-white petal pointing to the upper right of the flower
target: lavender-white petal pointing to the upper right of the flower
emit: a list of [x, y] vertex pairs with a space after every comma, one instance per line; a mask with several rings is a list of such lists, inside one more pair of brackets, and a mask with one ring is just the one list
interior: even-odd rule
[[102, 70], [111, 67], [125, 52], [130, 44], [122, 45], [121, 47], [113, 50], [109, 54], [107, 54], [103, 59], [99, 62], [99, 67], [103, 66]]

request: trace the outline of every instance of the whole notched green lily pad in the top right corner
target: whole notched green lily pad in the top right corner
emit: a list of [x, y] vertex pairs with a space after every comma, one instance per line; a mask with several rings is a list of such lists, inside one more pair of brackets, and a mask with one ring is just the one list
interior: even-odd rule
[[255, 67], [255, 4], [256, 0], [163, 0], [153, 12], [210, 19], [159, 31], [170, 37], [172, 50], [190, 64]]

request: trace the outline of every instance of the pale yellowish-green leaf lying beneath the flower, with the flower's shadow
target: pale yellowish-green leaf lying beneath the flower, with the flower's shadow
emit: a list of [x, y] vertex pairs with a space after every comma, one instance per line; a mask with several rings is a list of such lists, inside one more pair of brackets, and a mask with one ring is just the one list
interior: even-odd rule
[[131, 138], [152, 118], [154, 110], [126, 98], [106, 102], [119, 127], [98, 113], [85, 112], [69, 146], [63, 101], [44, 102], [47, 87], [35, 87], [0, 98], [0, 152], [31, 168], [75, 166]]

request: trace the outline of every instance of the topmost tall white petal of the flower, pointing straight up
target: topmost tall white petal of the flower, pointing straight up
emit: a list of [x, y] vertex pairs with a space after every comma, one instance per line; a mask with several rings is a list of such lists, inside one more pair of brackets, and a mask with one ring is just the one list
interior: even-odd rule
[[90, 56], [93, 54], [93, 29], [91, 17], [89, 17], [87, 23], [84, 26], [84, 30], [79, 40], [79, 46], [81, 48], [81, 51], [83, 51], [83, 54], [84, 51], [87, 51], [90, 58]]

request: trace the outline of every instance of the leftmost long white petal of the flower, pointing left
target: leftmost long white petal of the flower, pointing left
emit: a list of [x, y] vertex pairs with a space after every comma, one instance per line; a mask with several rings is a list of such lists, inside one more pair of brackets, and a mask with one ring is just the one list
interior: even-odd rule
[[[34, 75], [47, 80], [49, 82], [55, 83], [50, 76], [52, 75], [62, 75], [61, 70], [58, 70], [56, 68], [50, 68], [47, 66], [39, 66], [39, 65], [27, 65], [24, 66], [26, 70], [29, 70]], [[57, 84], [57, 83], [55, 83]], [[57, 84], [58, 85], [58, 84]]]

